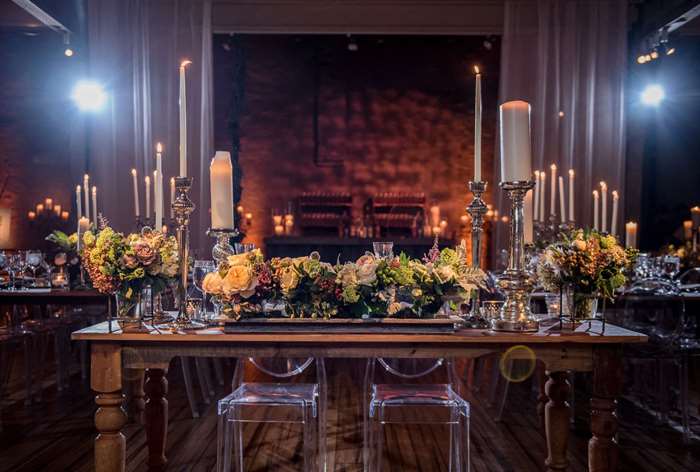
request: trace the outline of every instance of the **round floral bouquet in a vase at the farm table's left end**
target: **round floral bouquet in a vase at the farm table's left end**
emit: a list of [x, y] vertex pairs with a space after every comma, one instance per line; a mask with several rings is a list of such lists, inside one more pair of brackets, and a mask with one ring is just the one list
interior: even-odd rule
[[134, 316], [141, 292], [165, 290], [178, 271], [177, 240], [159, 231], [124, 235], [109, 226], [83, 234], [82, 260], [93, 286], [117, 296], [120, 319]]

